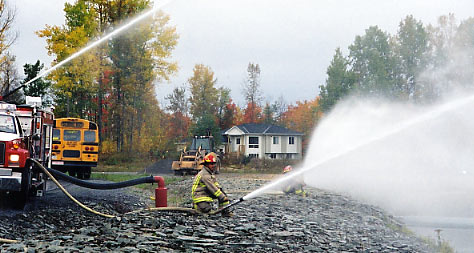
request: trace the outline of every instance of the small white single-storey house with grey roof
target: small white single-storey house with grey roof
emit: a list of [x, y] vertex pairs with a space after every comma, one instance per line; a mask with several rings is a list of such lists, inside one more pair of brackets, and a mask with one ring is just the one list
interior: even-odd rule
[[271, 124], [242, 124], [224, 131], [226, 152], [255, 158], [300, 159], [303, 134]]

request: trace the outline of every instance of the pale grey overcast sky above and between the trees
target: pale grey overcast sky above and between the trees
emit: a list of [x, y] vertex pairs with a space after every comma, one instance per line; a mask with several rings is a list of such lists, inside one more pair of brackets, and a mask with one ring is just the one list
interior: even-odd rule
[[[46, 42], [35, 34], [46, 24], [64, 23], [65, 0], [10, 0], [16, 6], [19, 33], [13, 54], [22, 65], [41, 60], [50, 66]], [[71, 1], [69, 1], [71, 2]], [[474, 16], [472, 0], [172, 0], [164, 11], [180, 35], [173, 58], [179, 73], [158, 85], [158, 100], [182, 86], [195, 64], [208, 65], [217, 86], [232, 90], [244, 105], [242, 83], [249, 62], [261, 68], [264, 101], [283, 96], [287, 103], [314, 99], [326, 80], [326, 69], [337, 47], [347, 55], [356, 35], [369, 26], [395, 34], [400, 21], [412, 14], [426, 24], [454, 13], [458, 20]]]

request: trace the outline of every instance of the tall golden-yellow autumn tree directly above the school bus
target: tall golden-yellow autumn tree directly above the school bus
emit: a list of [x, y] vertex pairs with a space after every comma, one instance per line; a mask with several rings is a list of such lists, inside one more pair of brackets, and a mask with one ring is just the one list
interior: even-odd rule
[[[98, 35], [96, 13], [87, 1], [65, 3], [64, 6], [66, 22], [63, 26], [47, 25], [37, 32], [46, 38], [48, 53], [56, 56], [54, 63], [67, 59]], [[90, 119], [88, 116], [94, 107], [91, 102], [97, 93], [98, 58], [96, 51], [91, 50], [51, 73], [57, 117]]]

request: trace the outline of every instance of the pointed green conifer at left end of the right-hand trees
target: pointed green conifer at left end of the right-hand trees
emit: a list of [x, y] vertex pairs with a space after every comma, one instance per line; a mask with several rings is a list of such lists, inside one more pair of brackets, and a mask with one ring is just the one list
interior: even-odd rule
[[319, 107], [323, 112], [328, 112], [334, 105], [344, 98], [352, 89], [355, 75], [349, 70], [349, 61], [342, 55], [341, 49], [337, 48], [326, 74], [326, 85], [319, 86]]

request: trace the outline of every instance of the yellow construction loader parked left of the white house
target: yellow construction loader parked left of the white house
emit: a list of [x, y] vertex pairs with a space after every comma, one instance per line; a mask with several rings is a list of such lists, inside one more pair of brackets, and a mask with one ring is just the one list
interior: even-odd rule
[[[174, 161], [171, 169], [175, 175], [197, 174], [204, 165], [201, 164], [204, 156], [210, 152], [215, 152], [214, 137], [194, 136], [189, 149], [184, 148], [179, 157], [179, 161]], [[221, 168], [221, 159], [217, 158], [216, 173]]]

